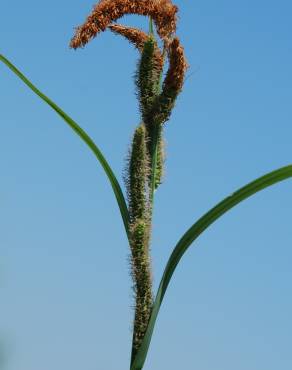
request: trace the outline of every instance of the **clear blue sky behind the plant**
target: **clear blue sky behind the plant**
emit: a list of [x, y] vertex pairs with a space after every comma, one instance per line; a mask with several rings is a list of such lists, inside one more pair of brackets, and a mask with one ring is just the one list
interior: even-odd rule
[[[177, 0], [190, 64], [167, 124], [156, 196], [157, 287], [194, 221], [292, 162], [290, 0]], [[90, 133], [122, 181], [139, 123], [138, 53], [104, 33], [68, 48], [92, 0], [1, 2], [0, 51]], [[147, 20], [126, 17], [147, 30]], [[7, 370], [126, 370], [128, 245], [100, 165], [0, 65], [0, 337]], [[292, 368], [292, 181], [225, 215], [190, 248], [162, 306], [145, 370]]]

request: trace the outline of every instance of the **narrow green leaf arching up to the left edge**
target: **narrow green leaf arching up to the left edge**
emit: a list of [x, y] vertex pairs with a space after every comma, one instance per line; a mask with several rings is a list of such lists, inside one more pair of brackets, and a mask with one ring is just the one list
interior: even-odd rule
[[73, 131], [88, 145], [88, 147], [93, 151], [94, 155], [100, 162], [102, 168], [104, 169], [112, 189], [115, 193], [116, 200], [118, 202], [123, 223], [125, 226], [126, 233], [129, 237], [129, 213], [127, 204], [121, 189], [121, 186], [111, 169], [110, 165], [106, 161], [105, 157], [101, 153], [100, 149], [96, 146], [94, 141], [88, 136], [88, 134], [71, 118], [66, 114], [61, 108], [57, 106], [51, 99], [49, 99], [45, 94], [43, 94], [36, 86], [34, 86], [8, 59], [0, 54], [0, 61], [2, 61], [6, 66], [14, 72], [36, 95], [38, 95], [45, 103], [47, 103], [63, 120], [72, 128]]

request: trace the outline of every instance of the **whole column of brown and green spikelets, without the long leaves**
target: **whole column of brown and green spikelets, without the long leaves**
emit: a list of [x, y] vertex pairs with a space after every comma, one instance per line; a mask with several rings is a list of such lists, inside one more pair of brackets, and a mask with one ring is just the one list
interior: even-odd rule
[[[142, 123], [133, 136], [125, 176], [130, 216], [131, 275], [135, 294], [132, 358], [145, 335], [153, 305], [149, 253], [151, 196], [153, 180], [156, 189], [161, 184], [164, 173], [163, 124], [171, 115], [187, 69], [184, 49], [179, 39], [173, 37], [177, 11], [178, 8], [171, 0], [100, 0], [85, 23], [76, 29], [70, 43], [74, 49], [83, 47], [108, 28], [129, 40], [141, 53], [135, 83]], [[163, 41], [163, 53], [154, 36], [136, 28], [113, 23], [126, 14], [152, 18]], [[162, 83], [165, 51], [169, 67]], [[154, 153], [156, 162], [152, 163]]]

